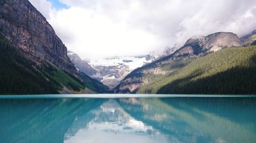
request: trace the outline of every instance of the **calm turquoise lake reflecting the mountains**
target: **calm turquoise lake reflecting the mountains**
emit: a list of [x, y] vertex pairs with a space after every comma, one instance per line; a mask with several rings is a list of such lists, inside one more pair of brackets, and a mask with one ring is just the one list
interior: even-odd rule
[[0, 142], [256, 142], [256, 98], [203, 96], [0, 96]]

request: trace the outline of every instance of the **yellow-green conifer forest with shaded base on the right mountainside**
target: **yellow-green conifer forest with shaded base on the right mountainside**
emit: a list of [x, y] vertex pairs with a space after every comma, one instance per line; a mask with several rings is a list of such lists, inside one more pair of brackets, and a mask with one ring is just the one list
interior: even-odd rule
[[179, 73], [158, 83], [167, 81], [157, 94], [256, 94], [256, 46], [225, 48], [184, 62], [173, 71]]

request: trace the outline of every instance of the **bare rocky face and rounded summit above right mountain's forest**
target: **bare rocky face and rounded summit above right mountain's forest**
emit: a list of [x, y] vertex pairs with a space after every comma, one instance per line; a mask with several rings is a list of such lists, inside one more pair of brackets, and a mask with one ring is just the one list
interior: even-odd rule
[[[218, 51], [225, 47], [240, 47], [240, 39], [236, 34], [219, 32], [204, 36], [194, 36], [186, 41], [186, 43], [176, 50], [174, 53], [161, 58], [151, 64], [145, 65], [134, 70], [127, 75], [121, 83], [116, 87], [116, 93], [134, 93], [142, 84], [147, 83], [150, 78], [142, 78], [150, 73], [154, 75], [165, 75], [169, 71], [163, 70], [162, 65], [175, 60], [185, 60], [190, 58], [199, 58], [210, 52]], [[178, 65], [182, 66], [182, 65]]]

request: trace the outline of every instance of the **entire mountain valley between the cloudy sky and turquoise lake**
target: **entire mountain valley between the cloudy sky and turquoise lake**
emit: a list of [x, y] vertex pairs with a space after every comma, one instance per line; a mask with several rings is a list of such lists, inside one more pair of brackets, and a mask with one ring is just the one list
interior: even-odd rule
[[256, 94], [255, 30], [240, 38], [195, 35], [146, 55], [81, 59], [29, 1], [0, 8], [0, 94]]

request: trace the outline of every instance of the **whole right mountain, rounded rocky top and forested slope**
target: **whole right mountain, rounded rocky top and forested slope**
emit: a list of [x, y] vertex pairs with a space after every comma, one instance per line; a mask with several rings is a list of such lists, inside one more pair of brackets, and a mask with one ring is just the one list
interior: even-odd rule
[[256, 78], [255, 46], [233, 47], [241, 44], [232, 33], [193, 39], [173, 54], [134, 70], [115, 93], [255, 94], [251, 87]]

